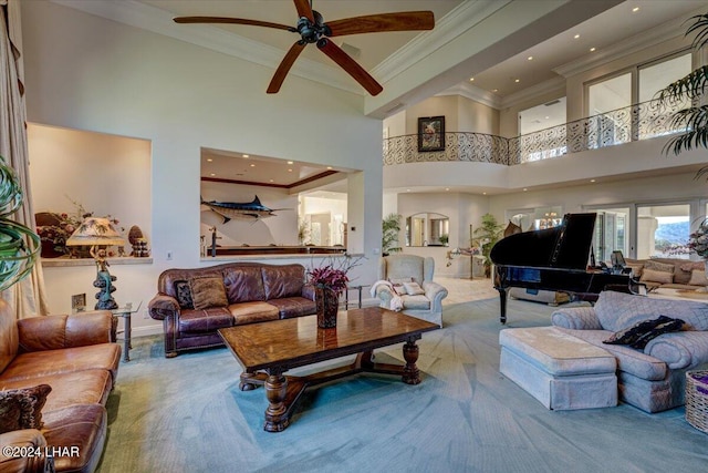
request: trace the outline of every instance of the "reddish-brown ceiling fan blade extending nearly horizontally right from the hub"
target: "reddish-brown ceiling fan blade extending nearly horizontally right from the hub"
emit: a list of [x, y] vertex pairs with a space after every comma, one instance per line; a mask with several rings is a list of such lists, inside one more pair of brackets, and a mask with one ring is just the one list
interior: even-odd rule
[[368, 14], [365, 17], [327, 21], [327, 27], [332, 30], [332, 34], [327, 34], [327, 37], [379, 33], [385, 31], [431, 30], [435, 27], [435, 16], [431, 11], [402, 11], [399, 13]]

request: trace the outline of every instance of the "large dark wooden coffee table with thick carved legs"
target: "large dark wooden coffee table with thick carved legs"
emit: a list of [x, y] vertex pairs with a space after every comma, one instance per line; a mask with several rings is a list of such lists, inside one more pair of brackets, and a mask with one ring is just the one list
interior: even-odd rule
[[[363, 371], [400, 374], [403, 382], [417, 384], [416, 367], [423, 332], [436, 323], [379, 307], [351, 309], [337, 315], [336, 328], [317, 328], [316, 316], [296, 317], [219, 329], [231, 353], [243, 367], [242, 391], [263, 384], [268, 409], [263, 429], [281, 432], [290, 424], [293, 407], [305, 389]], [[375, 363], [375, 348], [405, 342], [405, 366]], [[283, 376], [292, 368], [357, 353], [348, 366], [304, 377]]]

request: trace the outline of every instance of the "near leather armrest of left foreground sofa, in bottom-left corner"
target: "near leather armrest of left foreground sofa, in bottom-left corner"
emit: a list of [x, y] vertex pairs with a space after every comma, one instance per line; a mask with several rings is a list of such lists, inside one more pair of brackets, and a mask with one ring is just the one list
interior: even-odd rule
[[[45, 455], [46, 440], [37, 429], [0, 433], [0, 446], [2, 446], [0, 472], [46, 473], [54, 471], [54, 459]], [[37, 454], [28, 455], [24, 453], [22, 449], [28, 448]], [[18, 451], [13, 452], [13, 449]]]

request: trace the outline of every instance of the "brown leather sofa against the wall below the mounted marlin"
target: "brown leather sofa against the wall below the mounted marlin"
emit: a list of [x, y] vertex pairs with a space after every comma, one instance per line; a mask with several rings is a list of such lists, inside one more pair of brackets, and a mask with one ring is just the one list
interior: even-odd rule
[[[222, 301], [192, 304], [192, 291], [205, 278]], [[211, 278], [211, 279], [209, 279]], [[221, 289], [221, 282], [223, 288]], [[163, 321], [165, 357], [180, 351], [219, 347], [217, 330], [243, 323], [315, 313], [314, 290], [305, 285], [302, 265], [227, 263], [208, 268], [167, 269], [157, 280], [157, 295], [148, 304], [153, 319]], [[200, 298], [204, 299], [204, 298]]]

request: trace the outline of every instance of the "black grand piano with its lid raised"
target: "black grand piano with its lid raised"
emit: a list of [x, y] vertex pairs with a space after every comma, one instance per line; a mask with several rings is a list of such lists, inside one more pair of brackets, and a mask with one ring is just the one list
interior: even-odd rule
[[507, 322], [507, 289], [562, 290], [576, 299], [595, 300], [605, 287], [633, 291], [628, 274], [589, 269], [596, 214], [565, 214], [560, 226], [510, 235], [489, 255], [494, 264], [501, 323]]

